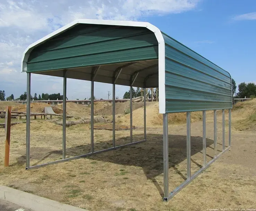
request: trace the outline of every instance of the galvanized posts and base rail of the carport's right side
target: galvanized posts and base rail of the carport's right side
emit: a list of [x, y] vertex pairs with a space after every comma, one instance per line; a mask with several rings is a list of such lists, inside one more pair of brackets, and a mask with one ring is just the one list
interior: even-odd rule
[[[225, 118], [224, 109], [222, 110], [222, 127], [225, 133]], [[169, 162], [168, 162], [168, 118], [167, 114], [163, 114], [163, 159], [164, 159], [164, 197], [165, 202], [173, 198], [180, 190], [185, 188], [192, 180], [194, 180], [199, 174], [201, 174], [205, 169], [207, 169], [213, 162], [215, 162], [224, 152], [228, 151], [231, 146], [231, 109], [229, 109], [229, 146], [225, 148], [224, 138], [223, 138], [223, 148], [224, 150], [217, 155], [217, 111], [214, 110], [214, 158], [206, 163], [206, 112], [203, 111], [203, 167], [200, 168], [196, 173], [191, 175], [191, 120], [190, 112], [187, 112], [187, 179], [181, 183], [177, 188], [169, 193]], [[224, 137], [224, 136], [223, 136]]]

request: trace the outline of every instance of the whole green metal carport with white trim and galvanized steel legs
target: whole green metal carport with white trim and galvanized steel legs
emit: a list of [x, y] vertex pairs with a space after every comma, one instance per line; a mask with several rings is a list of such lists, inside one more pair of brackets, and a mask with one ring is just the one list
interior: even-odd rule
[[[208, 59], [187, 48], [147, 22], [79, 19], [30, 45], [21, 71], [27, 73], [26, 169], [86, 157], [147, 140], [144, 100], [144, 140], [132, 139], [130, 96], [130, 143], [115, 145], [115, 85], [159, 88], [159, 113], [163, 114], [164, 201], [171, 199], [204, 171], [231, 143], [231, 76]], [[31, 73], [63, 78], [62, 160], [30, 166]], [[91, 151], [66, 158], [67, 78], [91, 81]], [[113, 84], [113, 146], [94, 151], [94, 81]], [[222, 152], [217, 154], [217, 109], [222, 109]], [[229, 144], [225, 148], [224, 109], [229, 109]], [[206, 111], [214, 110], [215, 156], [206, 163]], [[191, 175], [190, 112], [203, 112], [203, 167]], [[187, 180], [169, 192], [168, 113], [187, 112]]]

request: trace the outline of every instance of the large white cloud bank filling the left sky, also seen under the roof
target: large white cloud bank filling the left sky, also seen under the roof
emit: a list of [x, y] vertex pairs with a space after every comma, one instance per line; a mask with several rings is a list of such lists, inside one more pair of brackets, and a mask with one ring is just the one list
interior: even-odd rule
[[[19, 96], [26, 88], [26, 74], [20, 73], [23, 51], [34, 41], [79, 18], [139, 20], [142, 17], [180, 13], [196, 8], [200, 0], [1, 0], [0, 1], [0, 89]], [[33, 75], [32, 92], [62, 92], [62, 80]], [[90, 96], [88, 81], [68, 81], [67, 93], [73, 98]], [[2, 87], [3, 86], [3, 87]], [[97, 88], [100, 86], [101, 88]], [[95, 86], [95, 95], [106, 98]], [[77, 90], [80, 90], [79, 92]], [[123, 96], [127, 87], [118, 87]], [[10, 92], [10, 93], [9, 93]]]

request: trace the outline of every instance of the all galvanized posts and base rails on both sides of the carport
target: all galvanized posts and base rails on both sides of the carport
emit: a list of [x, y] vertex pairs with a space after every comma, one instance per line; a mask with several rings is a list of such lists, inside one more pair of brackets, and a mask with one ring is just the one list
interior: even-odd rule
[[[87, 157], [93, 154], [98, 154], [101, 152], [107, 152], [114, 150], [116, 148], [130, 146], [133, 144], [138, 144], [146, 141], [146, 99], [145, 99], [145, 87], [144, 87], [144, 140], [133, 142], [132, 140], [132, 86], [130, 86], [130, 143], [123, 144], [120, 146], [115, 146], [115, 81], [120, 75], [122, 68], [119, 70], [119, 73], [113, 77], [113, 147], [107, 148], [104, 150], [94, 151], [94, 81], [95, 75], [99, 67], [92, 68], [91, 75], [91, 152], [83, 155], [78, 155], [70, 158], [65, 158], [66, 151], [66, 133], [65, 133], [65, 123], [66, 123], [66, 92], [67, 92], [67, 71], [63, 72], [63, 152], [62, 160], [53, 161], [49, 163], [39, 164], [30, 166], [30, 86], [31, 86], [31, 73], [27, 73], [27, 123], [26, 123], [26, 169], [36, 169], [42, 166], [61, 163], [65, 161], [76, 160], [81, 157]], [[136, 78], [135, 78], [136, 79]], [[134, 80], [135, 80], [134, 79]], [[146, 80], [144, 81], [144, 84]], [[217, 160], [221, 154], [229, 150], [231, 146], [231, 109], [229, 109], [229, 146], [225, 149], [225, 113], [222, 109], [222, 144], [223, 151], [217, 155], [217, 111], [214, 110], [214, 158], [206, 163], [206, 112], [203, 111], [203, 167], [198, 170], [195, 174], [191, 175], [191, 114], [187, 112], [187, 180], [180, 184], [176, 189], [169, 193], [169, 146], [168, 146], [168, 114], [163, 114], [163, 159], [164, 159], [164, 201], [168, 201], [173, 198], [180, 190], [187, 186], [193, 179], [195, 179], [200, 173], [207, 169], [210, 164]]]

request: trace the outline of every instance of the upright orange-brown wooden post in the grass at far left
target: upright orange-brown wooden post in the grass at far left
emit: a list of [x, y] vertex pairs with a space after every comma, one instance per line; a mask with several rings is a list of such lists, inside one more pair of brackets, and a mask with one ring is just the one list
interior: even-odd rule
[[10, 137], [11, 137], [11, 106], [6, 108], [6, 120], [5, 120], [5, 167], [9, 166], [10, 157]]

